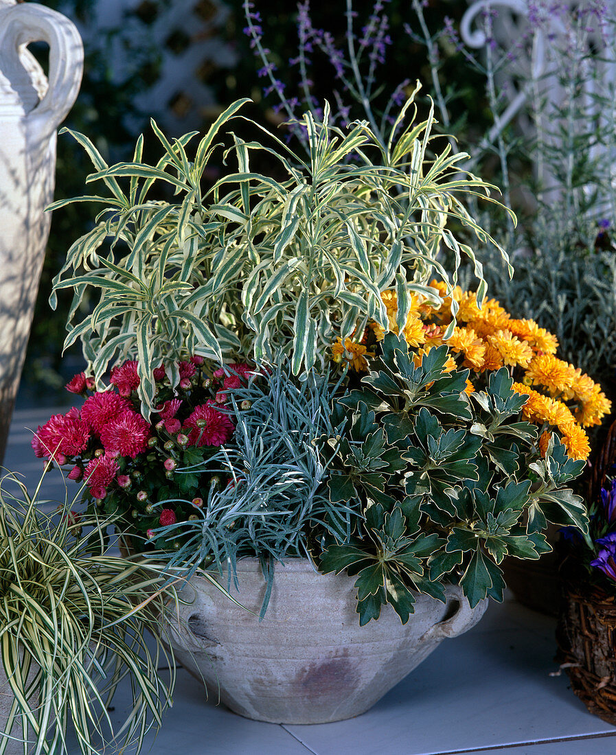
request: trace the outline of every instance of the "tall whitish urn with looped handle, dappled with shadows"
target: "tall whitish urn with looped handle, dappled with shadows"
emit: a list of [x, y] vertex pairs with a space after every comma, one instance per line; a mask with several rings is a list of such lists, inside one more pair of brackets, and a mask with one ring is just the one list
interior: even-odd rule
[[[49, 79], [26, 49], [49, 45]], [[0, 0], [0, 462], [5, 451], [53, 199], [56, 129], [77, 97], [79, 32], [62, 14]]]

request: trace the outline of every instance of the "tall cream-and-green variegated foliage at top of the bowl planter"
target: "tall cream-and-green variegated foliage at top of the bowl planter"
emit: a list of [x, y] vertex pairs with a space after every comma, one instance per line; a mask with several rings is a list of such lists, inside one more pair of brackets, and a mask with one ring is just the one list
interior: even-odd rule
[[[196, 133], [170, 143], [153, 123], [164, 149], [154, 166], [141, 162], [142, 137], [133, 162], [109, 167], [86, 137], [73, 134], [96, 168], [88, 183], [102, 180], [112, 196], [70, 200], [107, 206], [70, 248], [51, 304], [57, 289], [74, 288], [66, 345], [82, 341], [97, 379], [114, 362], [138, 359], [145, 414], [161, 362], [190, 353], [258, 361], [281, 349], [299, 374], [367, 319], [387, 329], [379, 295], [387, 288], [398, 291], [401, 328], [410, 294], [438, 300], [429, 280], [455, 282], [465, 254], [478, 296], [484, 292], [481, 262], [449, 224], [494, 243], [464, 205], [475, 194], [489, 199], [492, 187], [466, 174], [466, 155], [451, 154], [447, 140], [432, 134], [432, 112], [415, 123], [410, 97], [383, 144], [367, 122], [347, 131], [331, 126], [326, 105], [322, 122], [311, 113], [303, 118], [307, 159], [254, 122], [262, 143], [230, 132], [222, 152], [221, 128], [232, 118], [243, 125], [237, 112], [245, 102], [229, 106], [192, 151]], [[255, 151], [268, 153], [272, 172], [283, 177], [252, 171]], [[231, 160], [237, 171], [204, 192], [206, 168]], [[157, 182], [172, 186], [175, 201], [153, 198]], [[453, 270], [439, 262], [441, 245], [453, 250]], [[98, 298], [82, 316], [92, 288]], [[170, 377], [177, 384], [178, 374]]]

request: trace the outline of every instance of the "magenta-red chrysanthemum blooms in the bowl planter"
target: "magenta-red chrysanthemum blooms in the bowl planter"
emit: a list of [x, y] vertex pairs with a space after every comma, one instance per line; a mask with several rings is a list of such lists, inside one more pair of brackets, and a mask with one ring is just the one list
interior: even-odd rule
[[[76, 374], [67, 390], [87, 398], [81, 409], [73, 407], [67, 414], [55, 414], [38, 428], [32, 440], [36, 456], [60, 466], [73, 465], [68, 477], [84, 480], [91, 498], [103, 501], [112, 490], [130, 487], [127, 467], [138, 467], [143, 455], [156, 451], [161, 432], [180, 449], [224, 445], [231, 439], [234, 425], [221, 409], [228, 392], [243, 384], [251, 368], [246, 364], [230, 365], [208, 378], [201, 374], [202, 365], [201, 356], [178, 364], [180, 382], [176, 395], [156, 406], [151, 422], [139, 411], [137, 362], [124, 362], [114, 368], [107, 390], [95, 390], [91, 377]], [[157, 396], [173, 393], [163, 365], [154, 370], [153, 377], [159, 386]], [[197, 403], [196, 398], [206, 393], [210, 397]], [[161, 464], [171, 474], [177, 462], [167, 449], [162, 450]], [[163, 518], [169, 520], [169, 513]]]

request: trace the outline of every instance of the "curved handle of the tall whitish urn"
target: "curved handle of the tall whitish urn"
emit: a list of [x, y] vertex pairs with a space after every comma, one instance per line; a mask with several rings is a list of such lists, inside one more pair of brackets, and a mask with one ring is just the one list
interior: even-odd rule
[[79, 93], [83, 45], [72, 21], [51, 8], [22, 3], [6, 8], [0, 24], [0, 51], [6, 63], [22, 66], [20, 54], [31, 42], [49, 45], [49, 86], [42, 100], [26, 116], [37, 136], [51, 136]]

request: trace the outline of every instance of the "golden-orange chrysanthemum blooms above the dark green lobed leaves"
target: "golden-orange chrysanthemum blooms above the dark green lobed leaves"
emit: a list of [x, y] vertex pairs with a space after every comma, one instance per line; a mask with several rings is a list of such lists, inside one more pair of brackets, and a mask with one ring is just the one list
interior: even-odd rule
[[[601, 424], [611, 410], [611, 402], [601, 387], [580, 369], [574, 368], [556, 356], [556, 337], [540, 328], [534, 320], [514, 319], [494, 299], [485, 299], [481, 305], [472, 291], [457, 286], [447, 291], [444, 282], [432, 281], [432, 288], [443, 300], [440, 306], [411, 294], [410, 310], [403, 328], [407, 344], [417, 350], [416, 364], [432, 347], [447, 344], [453, 363], [469, 368], [481, 380], [486, 372], [509, 367], [518, 378], [513, 388], [528, 396], [523, 413], [528, 421], [543, 427], [540, 448], [546, 448], [551, 428], [559, 431], [568, 455], [585, 459], [590, 452], [584, 427]], [[389, 330], [398, 333], [398, 300], [395, 291], [383, 291], [383, 304], [387, 310]], [[456, 327], [446, 340], [444, 334], [451, 322], [452, 299], [458, 305]], [[376, 341], [382, 341], [385, 331], [375, 323], [370, 325]], [[346, 339], [333, 345], [334, 359], [344, 358], [354, 368], [367, 369], [366, 347]], [[359, 353], [358, 350], [363, 350]], [[467, 393], [474, 390], [472, 382]], [[570, 406], [568, 406], [568, 404]], [[571, 408], [570, 408], [571, 407]]]

